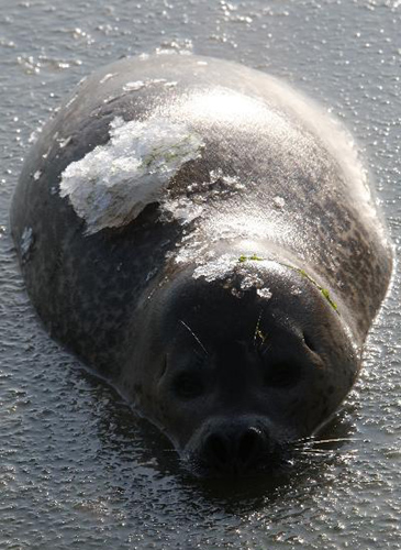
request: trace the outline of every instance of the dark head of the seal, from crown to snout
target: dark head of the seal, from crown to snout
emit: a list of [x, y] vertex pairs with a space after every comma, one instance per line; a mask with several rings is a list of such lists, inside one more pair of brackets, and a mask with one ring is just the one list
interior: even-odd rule
[[[252, 265], [254, 264], [254, 265]], [[255, 277], [268, 290], [244, 287]], [[353, 385], [358, 359], [334, 307], [297, 271], [248, 261], [213, 282], [190, 266], [145, 305], [121, 385], [199, 475], [276, 469]], [[125, 373], [133, 373], [125, 369]]]

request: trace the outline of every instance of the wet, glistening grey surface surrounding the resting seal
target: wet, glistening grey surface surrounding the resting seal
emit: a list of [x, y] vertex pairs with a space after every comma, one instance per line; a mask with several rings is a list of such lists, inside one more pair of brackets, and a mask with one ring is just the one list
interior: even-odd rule
[[0, 0], [1, 549], [401, 547], [399, 274], [331, 429], [347, 441], [276, 487], [227, 488], [189, 480], [168, 442], [49, 340], [8, 233], [22, 158], [60, 98], [100, 65], [172, 48], [283, 77], [343, 119], [399, 251], [400, 24], [399, 0]]

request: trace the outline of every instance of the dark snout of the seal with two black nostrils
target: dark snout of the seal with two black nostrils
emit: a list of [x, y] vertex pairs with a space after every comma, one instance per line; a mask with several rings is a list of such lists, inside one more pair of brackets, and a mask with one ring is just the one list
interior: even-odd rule
[[259, 422], [222, 422], [201, 436], [196, 452], [208, 475], [236, 476], [269, 466], [274, 448], [268, 428]]

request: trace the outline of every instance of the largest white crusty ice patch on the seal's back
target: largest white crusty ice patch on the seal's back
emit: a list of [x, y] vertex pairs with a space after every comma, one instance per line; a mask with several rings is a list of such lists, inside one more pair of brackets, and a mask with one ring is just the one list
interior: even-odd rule
[[171, 177], [198, 158], [202, 146], [187, 124], [118, 117], [110, 124], [110, 141], [63, 172], [60, 196], [87, 222], [87, 234], [125, 226], [160, 200]]

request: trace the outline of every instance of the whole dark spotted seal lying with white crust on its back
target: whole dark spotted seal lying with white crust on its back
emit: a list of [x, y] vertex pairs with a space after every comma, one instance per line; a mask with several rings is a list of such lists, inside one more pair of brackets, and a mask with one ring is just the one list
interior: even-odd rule
[[275, 471], [334, 414], [392, 270], [347, 132], [192, 55], [82, 81], [24, 163], [11, 229], [51, 336], [200, 476]]

